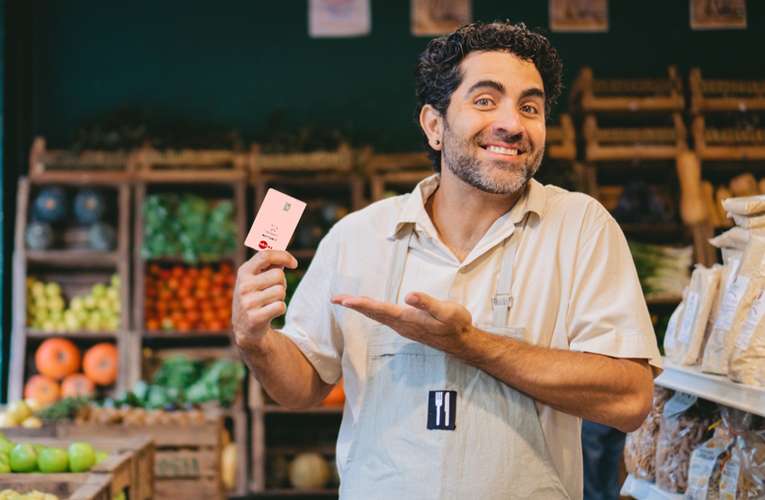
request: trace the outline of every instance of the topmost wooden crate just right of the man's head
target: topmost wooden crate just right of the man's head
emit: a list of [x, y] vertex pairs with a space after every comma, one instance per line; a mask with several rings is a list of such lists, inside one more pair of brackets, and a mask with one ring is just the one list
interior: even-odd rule
[[665, 78], [604, 78], [592, 68], [579, 72], [572, 88], [572, 108], [580, 113], [671, 113], [685, 109], [683, 84], [675, 66]]

